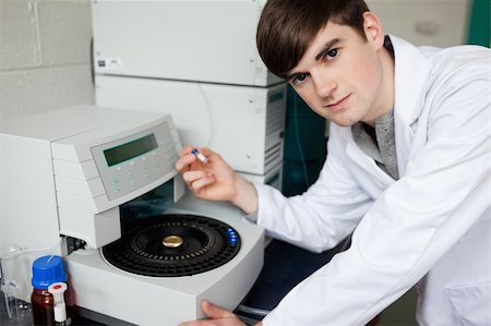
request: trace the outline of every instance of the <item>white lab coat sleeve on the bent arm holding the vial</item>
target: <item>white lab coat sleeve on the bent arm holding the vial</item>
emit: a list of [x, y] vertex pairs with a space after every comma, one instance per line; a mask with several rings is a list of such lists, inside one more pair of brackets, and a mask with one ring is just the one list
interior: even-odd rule
[[272, 237], [322, 252], [352, 232], [372, 200], [337, 160], [342, 146], [339, 140], [330, 140], [320, 177], [302, 195], [286, 198], [274, 188], [255, 184], [258, 224]]

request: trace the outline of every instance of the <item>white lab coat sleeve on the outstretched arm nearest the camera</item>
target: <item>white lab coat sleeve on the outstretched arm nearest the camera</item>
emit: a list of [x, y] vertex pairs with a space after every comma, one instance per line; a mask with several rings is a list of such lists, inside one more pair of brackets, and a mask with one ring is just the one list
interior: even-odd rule
[[406, 174], [373, 203], [350, 249], [294, 288], [265, 326], [364, 325], [489, 218], [489, 61], [471, 74], [435, 85], [418, 122], [426, 143]]

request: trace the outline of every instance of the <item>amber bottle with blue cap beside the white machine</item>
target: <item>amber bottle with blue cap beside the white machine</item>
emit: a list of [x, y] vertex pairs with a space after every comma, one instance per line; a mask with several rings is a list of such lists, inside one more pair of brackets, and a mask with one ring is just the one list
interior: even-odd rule
[[31, 295], [34, 325], [57, 325], [55, 321], [55, 299], [48, 287], [56, 282], [67, 282], [63, 261], [60, 256], [43, 256], [33, 263], [34, 287]]

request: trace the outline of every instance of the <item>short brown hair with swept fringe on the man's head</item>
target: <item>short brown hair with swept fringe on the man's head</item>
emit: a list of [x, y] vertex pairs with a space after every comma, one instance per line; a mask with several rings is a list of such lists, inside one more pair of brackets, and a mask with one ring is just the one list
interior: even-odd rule
[[258, 25], [256, 43], [263, 62], [286, 77], [327, 21], [352, 27], [363, 39], [362, 0], [268, 0]]

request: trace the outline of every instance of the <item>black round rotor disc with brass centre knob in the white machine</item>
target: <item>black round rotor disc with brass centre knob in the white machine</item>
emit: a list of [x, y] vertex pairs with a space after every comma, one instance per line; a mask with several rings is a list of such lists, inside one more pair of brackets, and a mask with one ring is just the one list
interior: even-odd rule
[[133, 274], [169, 277], [211, 270], [239, 252], [230, 226], [195, 215], [159, 215], [134, 220], [121, 238], [103, 247], [113, 266]]

